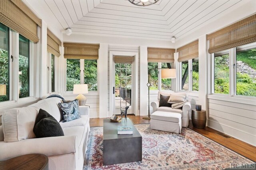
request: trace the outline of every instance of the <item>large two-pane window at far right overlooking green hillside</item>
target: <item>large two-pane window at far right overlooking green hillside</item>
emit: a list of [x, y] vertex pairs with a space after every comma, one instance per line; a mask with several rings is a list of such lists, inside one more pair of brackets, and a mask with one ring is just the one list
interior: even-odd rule
[[212, 93], [256, 97], [256, 43], [217, 52], [212, 57]]

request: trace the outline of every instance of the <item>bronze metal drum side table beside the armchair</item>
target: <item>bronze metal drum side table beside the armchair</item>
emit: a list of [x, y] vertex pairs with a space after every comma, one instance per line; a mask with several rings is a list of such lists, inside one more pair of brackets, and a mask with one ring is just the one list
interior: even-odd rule
[[206, 111], [205, 110], [197, 111], [196, 109], [192, 109], [191, 119], [192, 119], [193, 127], [204, 128], [206, 124]]

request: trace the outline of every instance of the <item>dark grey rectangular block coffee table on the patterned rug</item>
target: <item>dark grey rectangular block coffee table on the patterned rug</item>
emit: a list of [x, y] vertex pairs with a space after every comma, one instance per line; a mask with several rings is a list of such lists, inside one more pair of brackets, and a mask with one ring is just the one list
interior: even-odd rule
[[[131, 126], [133, 134], [117, 134], [118, 126]], [[127, 118], [127, 122], [103, 122], [103, 165], [142, 160], [142, 136]]]

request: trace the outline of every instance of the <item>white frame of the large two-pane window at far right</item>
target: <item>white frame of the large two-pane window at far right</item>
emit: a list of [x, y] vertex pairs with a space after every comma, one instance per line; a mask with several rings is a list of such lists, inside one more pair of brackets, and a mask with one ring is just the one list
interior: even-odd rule
[[[214, 93], [214, 53], [208, 53], [209, 62], [208, 65], [210, 66], [210, 77], [208, 79], [209, 83], [209, 91], [208, 91], [208, 98], [209, 99], [228, 99], [228, 101], [244, 103], [244, 104], [252, 104], [256, 105], [255, 100], [256, 97], [253, 96], [243, 96], [243, 95], [236, 95], [236, 48], [230, 48], [229, 51], [229, 94], [219, 94]], [[250, 43], [247, 45], [240, 46], [243, 50], [256, 48], [256, 43]]]

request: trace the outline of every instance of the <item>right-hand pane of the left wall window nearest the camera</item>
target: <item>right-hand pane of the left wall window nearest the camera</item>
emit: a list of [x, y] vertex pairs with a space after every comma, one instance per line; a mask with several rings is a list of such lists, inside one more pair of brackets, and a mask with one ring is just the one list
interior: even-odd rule
[[19, 35], [19, 97], [28, 97], [29, 93], [29, 57], [30, 41], [22, 35]]

